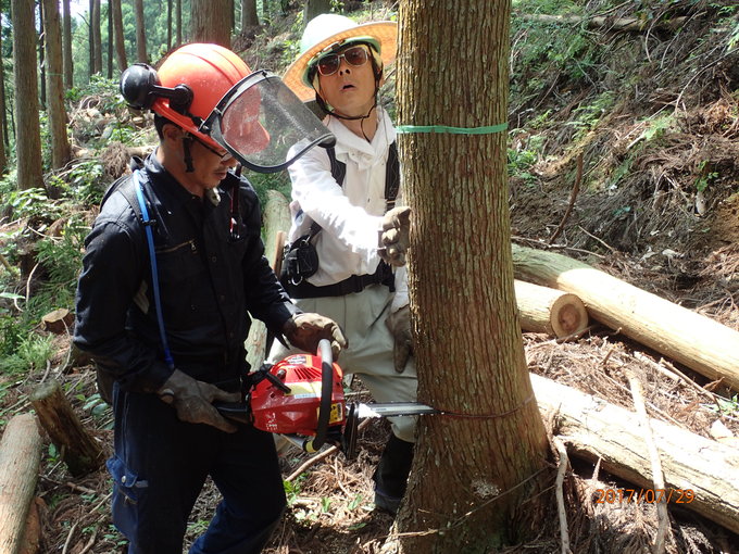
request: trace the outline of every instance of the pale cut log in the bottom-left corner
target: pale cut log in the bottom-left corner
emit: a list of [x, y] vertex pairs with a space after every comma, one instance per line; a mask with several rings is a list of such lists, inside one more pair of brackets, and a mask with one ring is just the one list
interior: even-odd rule
[[29, 506], [41, 461], [36, 417], [13, 417], [0, 441], [0, 552], [16, 554], [23, 545]]

